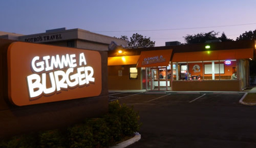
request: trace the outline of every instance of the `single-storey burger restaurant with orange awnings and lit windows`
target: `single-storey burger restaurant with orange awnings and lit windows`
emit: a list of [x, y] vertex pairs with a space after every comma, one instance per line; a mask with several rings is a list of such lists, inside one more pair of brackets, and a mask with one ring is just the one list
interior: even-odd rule
[[[166, 44], [168, 45], [168, 44]], [[251, 41], [108, 52], [109, 90], [241, 91], [249, 86]]]

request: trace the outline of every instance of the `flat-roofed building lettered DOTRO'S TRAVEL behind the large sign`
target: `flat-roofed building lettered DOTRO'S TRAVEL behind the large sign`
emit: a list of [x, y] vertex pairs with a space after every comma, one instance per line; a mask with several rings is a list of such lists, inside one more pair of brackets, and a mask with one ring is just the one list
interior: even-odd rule
[[[127, 41], [119, 38], [97, 34], [84, 29], [50, 29], [43, 33], [21, 35], [11, 32], [0, 32], [0, 38], [30, 43], [50, 44], [98, 51], [109, 50], [109, 45], [127, 46]], [[110, 47], [111, 48], [111, 47]]]

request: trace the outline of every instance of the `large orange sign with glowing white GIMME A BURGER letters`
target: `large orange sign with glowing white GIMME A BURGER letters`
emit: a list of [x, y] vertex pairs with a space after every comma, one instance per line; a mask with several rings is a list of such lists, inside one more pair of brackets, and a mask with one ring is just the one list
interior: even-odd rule
[[8, 47], [9, 100], [18, 106], [99, 96], [97, 51], [14, 42]]

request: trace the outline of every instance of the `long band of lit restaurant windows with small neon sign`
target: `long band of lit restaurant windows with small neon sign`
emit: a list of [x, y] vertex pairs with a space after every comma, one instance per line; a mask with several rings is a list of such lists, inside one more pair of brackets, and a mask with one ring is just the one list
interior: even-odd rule
[[237, 61], [174, 62], [172, 67], [173, 80], [231, 80], [236, 74]]

